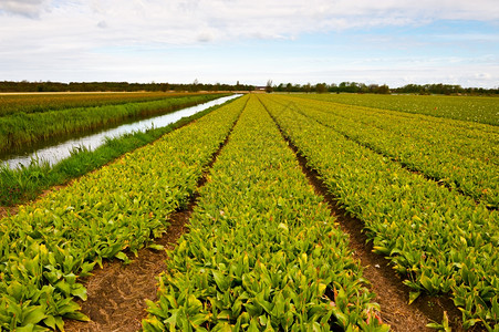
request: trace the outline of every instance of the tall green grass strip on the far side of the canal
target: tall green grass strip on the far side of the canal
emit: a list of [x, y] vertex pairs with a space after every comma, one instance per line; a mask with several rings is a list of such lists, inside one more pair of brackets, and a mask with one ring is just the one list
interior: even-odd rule
[[52, 138], [69, 137], [126, 120], [165, 114], [205, 103], [222, 94], [186, 95], [160, 101], [67, 108], [43, 113], [15, 113], [0, 117], [0, 153]]

